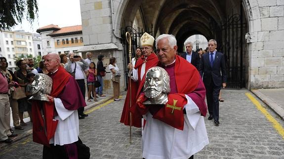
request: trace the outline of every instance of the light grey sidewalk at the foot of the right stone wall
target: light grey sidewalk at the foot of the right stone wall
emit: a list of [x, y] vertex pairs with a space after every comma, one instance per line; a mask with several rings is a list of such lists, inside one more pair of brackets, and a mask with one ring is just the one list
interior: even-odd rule
[[284, 88], [251, 90], [265, 104], [284, 119]]

